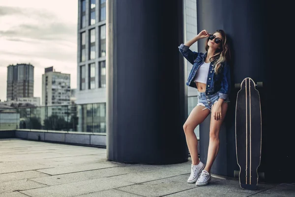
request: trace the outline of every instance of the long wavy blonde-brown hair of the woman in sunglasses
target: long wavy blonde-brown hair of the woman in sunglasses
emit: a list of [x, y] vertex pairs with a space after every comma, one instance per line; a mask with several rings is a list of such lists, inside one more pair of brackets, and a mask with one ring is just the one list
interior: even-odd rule
[[[215, 51], [215, 54], [210, 58], [210, 62], [214, 62], [213, 69], [214, 69], [214, 72], [217, 74], [221, 69], [221, 64], [223, 62], [230, 61], [231, 54], [230, 54], [230, 47], [229, 47], [229, 44], [226, 39], [226, 33], [223, 30], [216, 30], [216, 32], [214, 32], [214, 33], [220, 33], [222, 36], [221, 47], [218, 48]], [[206, 44], [205, 45], [206, 51], [208, 51], [208, 48], [209, 48], [208, 41], [209, 41], [209, 37], [207, 38], [207, 41], [205, 43]]]

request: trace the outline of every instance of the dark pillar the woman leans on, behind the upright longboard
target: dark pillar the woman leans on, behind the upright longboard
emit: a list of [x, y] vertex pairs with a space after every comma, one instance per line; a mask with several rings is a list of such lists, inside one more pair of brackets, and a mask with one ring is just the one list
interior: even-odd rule
[[[258, 171], [265, 172], [266, 182], [294, 181], [294, 153], [286, 145], [290, 144], [287, 142], [290, 141], [291, 135], [294, 136], [294, 129], [286, 129], [289, 121], [288, 116], [284, 114], [289, 108], [284, 106], [288, 105], [288, 101], [283, 99], [279, 104], [278, 98], [281, 97], [276, 97], [284, 93], [289, 94], [290, 89], [283, 89], [290, 87], [288, 84], [293, 84], [287, 82], [290, 77], [286, 75], [286, 69], [288, 65], [293, 65], [293, 60], [283, 58], [290, 57], [287, 55], [287, 49], [294, 47], [285, 39], [288, 38], [287, 29], [290, 29], [288, 27], [292, 18], [286, 16], [285, 13], [290, 13], [285, 10], [286, 6], [288, 4], [281, 1], [271, 4], [265, 0], [197, 1], [198, 32], [204, 29], [209, 33], [217, 29], [225, 30], [231, 41], [233, 55], [231, 105], [220, 131], [220, 149], [212, 166], [212, 173], [234, 176], [234, 170], [239, 170], [235, 142], [235, 105], [238, 90], [234, 89], [234, 84], [240, 83], [245, 77], [251, 77], [255, 82], [263, 82], [263, 88], [259, 89], [263, 130], [261, 165]], [[290, 22], [286, 22], [287, 28], [282, 27], [282, 22], [285, 21]], [[282, 32], [282, 36], [277, 36], [279, 32]], [[205, 52], [205, 40], [199, 41], [198, 49]], [[282, 60], [286, 67], [280, 66]], [[201, 160], [205, 162], [209, 121], [207, 118], [200, 126], [200, 155]]]

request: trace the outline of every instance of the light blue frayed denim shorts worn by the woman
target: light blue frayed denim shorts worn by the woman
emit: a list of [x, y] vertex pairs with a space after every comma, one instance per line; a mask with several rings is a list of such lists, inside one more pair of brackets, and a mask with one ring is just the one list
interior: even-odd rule
[[[201, 92], [198, 91], [198, 104], [197, 104], [197, 106], [198, 105], [205, 106], [205, 108], [203, 110], [209, 109], [210, 112], [211, 112], [212, 105], [215, 102], [217, 102], [218, 99], [219, 99], [218, 93], [219, 92], [217, 92], [217, 93], [215, 93], [213, 95], [206, 95], [205, 92], [204, 93], [201, 93]], [[224, 99], [223, 102], [229, 103], [230, 100], [229, 100], [229, 98], [227, 98], [227, 99]]]

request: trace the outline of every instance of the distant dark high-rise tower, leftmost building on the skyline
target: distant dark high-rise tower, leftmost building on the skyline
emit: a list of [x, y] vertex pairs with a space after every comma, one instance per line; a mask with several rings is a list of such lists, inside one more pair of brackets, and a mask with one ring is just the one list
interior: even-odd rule
[[34, 66], [17, 64], [7, 66], [7, 100], [33, 97]]

